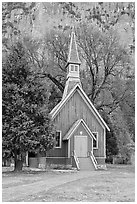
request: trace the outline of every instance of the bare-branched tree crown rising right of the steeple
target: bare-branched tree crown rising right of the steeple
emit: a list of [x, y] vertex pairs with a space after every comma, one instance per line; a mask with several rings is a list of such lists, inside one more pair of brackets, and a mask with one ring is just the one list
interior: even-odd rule
[[128, 49], [120, 45], [117, 32], [113, 29], [104, 33], [98, 27], [82, 24], [77, 33], [90, 78], [87, 94], [98, 110], [108, 108], [112, 111], [125, 96], [124, 86], [116, 96], [114, 92], [116, 79], [120, 79], [122, 72], [124, 75], [130, 63]]

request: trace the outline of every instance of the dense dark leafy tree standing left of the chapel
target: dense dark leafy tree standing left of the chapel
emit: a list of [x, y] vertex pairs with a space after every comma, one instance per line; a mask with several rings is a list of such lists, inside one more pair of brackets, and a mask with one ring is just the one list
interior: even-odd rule
[[26, 151], [46, 152], [55, 142], [45, 84], [29, 66], [18, 42], [3, 62], [2, 78], [2, 147], [14, 157], [16, 171], [22, 169]]

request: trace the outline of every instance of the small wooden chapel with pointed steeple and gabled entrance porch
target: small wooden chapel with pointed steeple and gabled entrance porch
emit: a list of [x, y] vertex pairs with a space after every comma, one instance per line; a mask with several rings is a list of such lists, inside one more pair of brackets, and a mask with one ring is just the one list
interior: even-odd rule
[[105, 165], [106, 129], [109, 127], [82, 89], [80, 65], [73, 29], [64, 93], [50, 113], [57, 128], [56, 146], [47, 152], [46, 161], [78, 170], [96, 170]]

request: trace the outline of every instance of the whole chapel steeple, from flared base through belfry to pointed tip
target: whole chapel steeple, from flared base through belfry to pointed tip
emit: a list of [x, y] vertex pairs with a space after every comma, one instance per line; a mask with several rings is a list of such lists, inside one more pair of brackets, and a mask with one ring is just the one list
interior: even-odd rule
[[79, 77], [79, 68], [80, 68], [80, 59], [78, 55], [76, 36], [74, 28], [71, 33], [71, 40], [69, 46], [69, 54], [67, 60], [67, 81], [63, 93], [62, 99], [64, 99], [68, 93], [73, 89], [73, 87], [78, 83], [81, 86], [80, 77]]

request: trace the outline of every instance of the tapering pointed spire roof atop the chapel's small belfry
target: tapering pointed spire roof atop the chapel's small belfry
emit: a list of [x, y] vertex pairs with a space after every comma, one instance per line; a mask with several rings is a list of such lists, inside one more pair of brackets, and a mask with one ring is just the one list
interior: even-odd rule
[[68, 54], [68, 61], [67, 64], [81, 64], [79, 55], [78, 55], [78, 49], [77, 49], [77, 43], [76, 43], [76, 36], [74, 32], [74, 27], [71, 33], [71, 40], [70, 40], [70, 47], [69, 47], [69, 54]]

